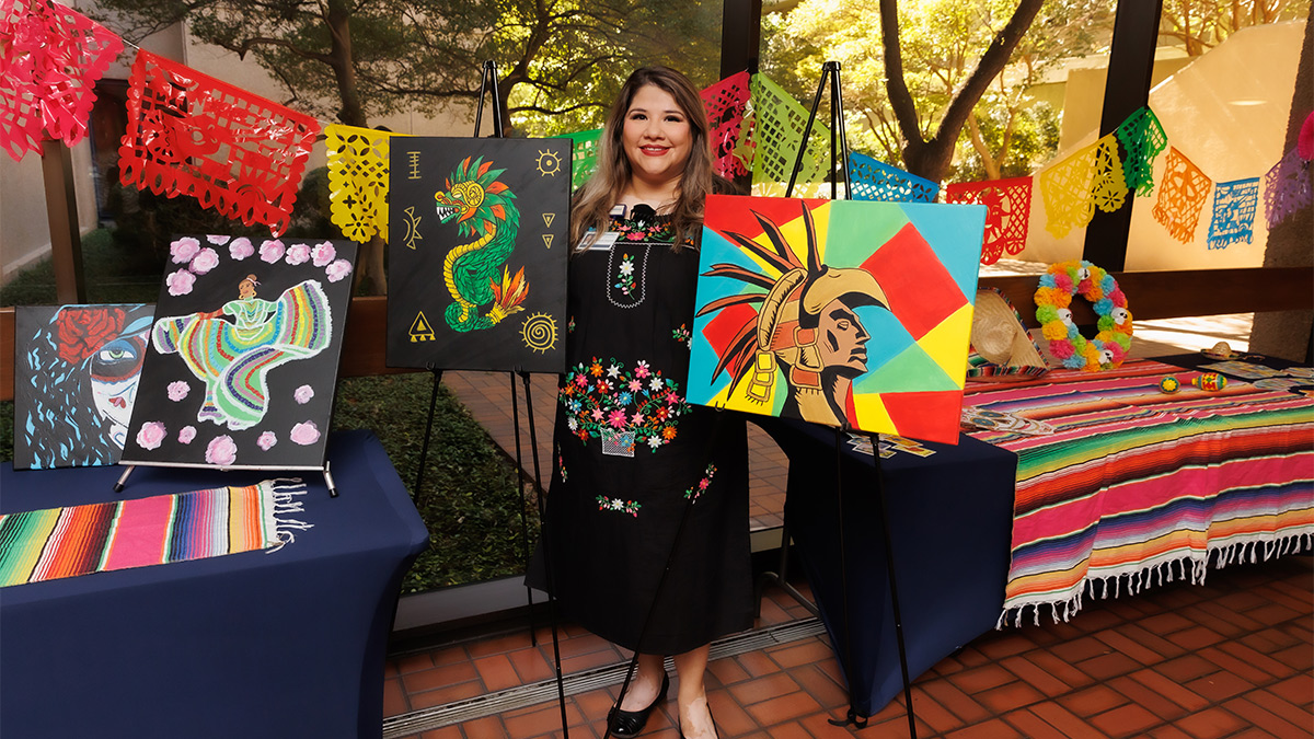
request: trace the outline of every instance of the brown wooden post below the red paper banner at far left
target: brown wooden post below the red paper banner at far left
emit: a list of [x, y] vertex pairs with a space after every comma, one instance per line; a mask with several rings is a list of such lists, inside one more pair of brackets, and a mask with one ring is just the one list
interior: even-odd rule
[[81, 234], [74, 163], [60, 141], [41, 142], [41, 175], [46, 183], [46, 218], [50, 222], [50, 259], [55, 266], [55, 297], [62, 304], [87, 302], [81, 268]]

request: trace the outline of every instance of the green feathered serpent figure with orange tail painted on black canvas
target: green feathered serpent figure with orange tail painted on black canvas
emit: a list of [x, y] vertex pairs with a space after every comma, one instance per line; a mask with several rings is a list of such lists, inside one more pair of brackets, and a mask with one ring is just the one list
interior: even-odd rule
[[[456, 224], [461, 238], [473, 241], [453, 247], [443, 260], [443, 281], [453, 302], [443, 318], [457, 331], [495, 326], [522, 310], [530, 296], [524, 267], [511, 276], [506, 267], [520, 227], [515, 193], [482, 156], [466, 156], [456, 166], [444, 189], [434, 195], [439, 222]], [[501, 270], [501, 271], [499, 271]], [[485, 310], [487, 306], [487, 310]]]

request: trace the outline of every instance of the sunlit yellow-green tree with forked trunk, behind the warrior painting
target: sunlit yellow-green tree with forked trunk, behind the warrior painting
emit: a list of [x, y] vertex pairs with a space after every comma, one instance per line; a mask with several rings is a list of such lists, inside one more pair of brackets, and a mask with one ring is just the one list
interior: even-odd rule
[[[961, 174], [972, 178], [1046, 159], [1054, 113], [1026, 89], [1060, 57], [1089, 50], [1110, 14], [1097, 0], [922, 0], [903, 3], [897, 16], [892, 7], [878, 16], [857, 0], [807, 0], [771, 16], [763, 68], [805, 89], [804, 70], [815, 84], [821, 60], [840, 60], [855, 147], [937, 180], [955, 147]], [[886, 74], [892, 62], [900, 74]]]

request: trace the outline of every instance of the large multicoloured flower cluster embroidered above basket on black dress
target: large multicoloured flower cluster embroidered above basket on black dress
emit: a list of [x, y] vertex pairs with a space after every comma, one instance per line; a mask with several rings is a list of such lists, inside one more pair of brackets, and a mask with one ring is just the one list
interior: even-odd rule
[[679, 384], [652, 370], [646, 360], [625, 368], [615, 358], [576, 364], [566, 373], [557, 401], [566, 408], [566, 427], [587, 442], [590, 437], [633, 434], [633, 442], [657, 451], [677, 434], [690, 406]]

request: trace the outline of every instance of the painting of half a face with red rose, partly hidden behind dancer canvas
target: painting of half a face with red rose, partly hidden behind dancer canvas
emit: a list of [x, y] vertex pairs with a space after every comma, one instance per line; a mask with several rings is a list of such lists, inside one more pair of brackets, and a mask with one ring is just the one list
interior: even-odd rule
[[151, 305], [16, 310], [14, 468], [118, 462], [152, 313]]

